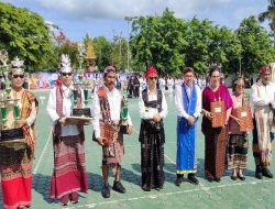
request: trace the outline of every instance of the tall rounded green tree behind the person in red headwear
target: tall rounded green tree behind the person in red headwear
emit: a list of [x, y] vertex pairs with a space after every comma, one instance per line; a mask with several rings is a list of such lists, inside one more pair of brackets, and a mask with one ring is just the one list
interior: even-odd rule
[[174, 12], [165, 9], [162, 16], [140, 16], [132, 30], [130, 46], [140, 66], [155, 66], [161, 75], [180, 70], [188, 44], [183, 34], [185, 24]]

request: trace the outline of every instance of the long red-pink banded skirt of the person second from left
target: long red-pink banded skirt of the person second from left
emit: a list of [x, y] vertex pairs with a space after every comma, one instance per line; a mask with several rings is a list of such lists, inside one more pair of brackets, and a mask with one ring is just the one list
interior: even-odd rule
[[74, 191], [87, 193], [84, 142], [79, 135], [64, 136], [54, 144], [54, 172], [51, 198], [62, 198]]

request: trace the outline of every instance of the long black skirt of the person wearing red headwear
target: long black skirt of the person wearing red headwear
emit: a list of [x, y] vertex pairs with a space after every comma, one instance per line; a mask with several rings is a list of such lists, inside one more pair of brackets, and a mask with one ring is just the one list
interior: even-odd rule
[[165, 180], [163, 172], [165, 135], [162, 122], [158, 128], [154, 129], [145, 122], [141, 124], [141, 172], [142, 188], [145, 190], [162, 189]]

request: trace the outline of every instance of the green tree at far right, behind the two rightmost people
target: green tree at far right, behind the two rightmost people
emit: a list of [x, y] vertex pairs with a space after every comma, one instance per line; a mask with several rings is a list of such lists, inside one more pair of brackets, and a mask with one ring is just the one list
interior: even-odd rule
[[246, 75], [274, 61], [275, 50], [267, 31], [255, 16], [244, 19], [237, 35], [242, 45], [242, 69]]

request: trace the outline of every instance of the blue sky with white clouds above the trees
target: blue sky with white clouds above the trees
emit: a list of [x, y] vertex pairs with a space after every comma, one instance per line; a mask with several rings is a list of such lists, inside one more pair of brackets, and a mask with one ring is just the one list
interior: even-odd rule
[[[38, 13], [48, 23], [58, 25], [74, 42], [86, 34], [111, 40], [113, 35], [129, 37], [125, 16], [162, 15], [165, 8], [176, 18], [208, 19], [215, 25], [238, 29], [250, 15], [267, 9], [267, 0], [0, 0]], [[263, 24], [267, 26], [267, 22]]]

